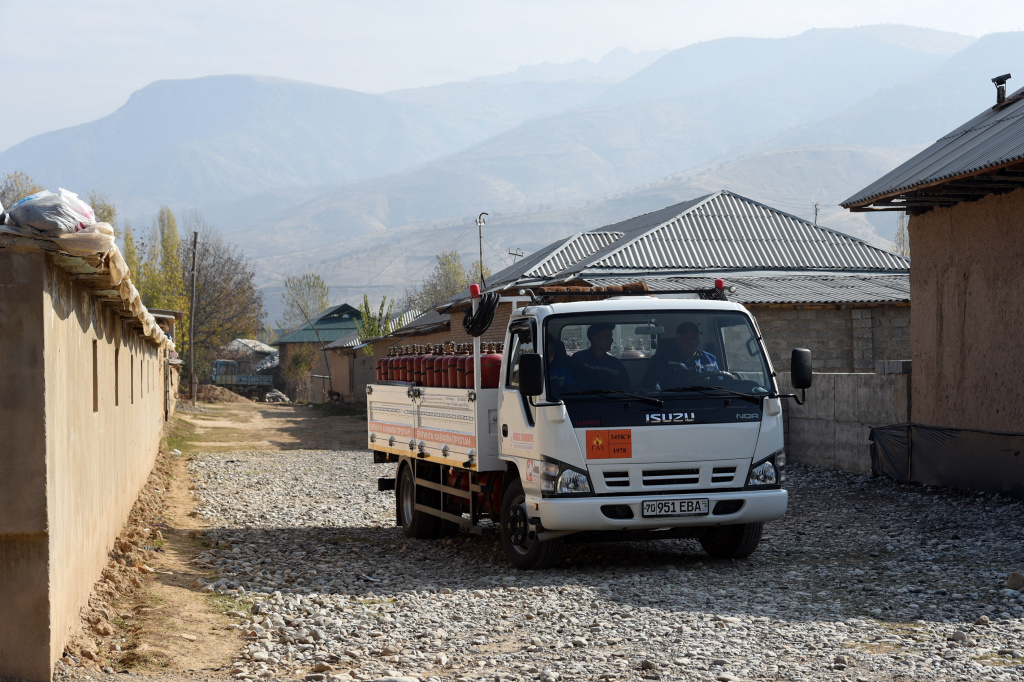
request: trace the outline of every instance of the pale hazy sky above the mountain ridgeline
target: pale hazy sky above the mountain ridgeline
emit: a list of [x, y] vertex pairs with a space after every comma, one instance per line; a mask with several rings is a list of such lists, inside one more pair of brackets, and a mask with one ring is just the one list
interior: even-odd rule
[[1010, 0], [0, 0], [0, 150], [156, 80], [259, 74], [367, 92], [728, 36], [908, 24], [1024, 28]]

